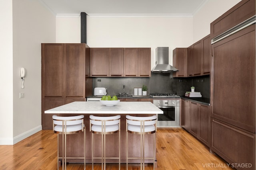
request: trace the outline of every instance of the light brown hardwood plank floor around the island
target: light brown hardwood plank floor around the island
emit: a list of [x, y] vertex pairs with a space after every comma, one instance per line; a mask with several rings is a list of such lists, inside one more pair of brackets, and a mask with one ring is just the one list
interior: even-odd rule
[[[156, 170], [232, 170], [182, 128], [158, 128], [156, 137]], [[42, 130], [15, 145], [0, 145], [0, 170], [56, 170], [56, 162], [57, 135], [51, 130]], [[128, 166], [129, 170], [140, 170], [139, 164]], [[145, 170], [153, 170], [153, 164], [145, 166]], [[67, 170], [83, 169], [83, 163], [67, 164]], [[87, 163], [86, 170], [91, 169], [92, 164]], [[94, 170], [100, 169], [101, 164], [94, 164]], [[118, 164], [107, 164], [106, 169], [118, 170]], [[126, 164], [121, 164], [121, 170], [126, 170]]]

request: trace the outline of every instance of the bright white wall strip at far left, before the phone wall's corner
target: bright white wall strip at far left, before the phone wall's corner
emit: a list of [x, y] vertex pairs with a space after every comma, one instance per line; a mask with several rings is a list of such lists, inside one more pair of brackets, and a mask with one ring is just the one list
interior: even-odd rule
[[0, 145], [13, 138], [12, 1], [0, 2]]

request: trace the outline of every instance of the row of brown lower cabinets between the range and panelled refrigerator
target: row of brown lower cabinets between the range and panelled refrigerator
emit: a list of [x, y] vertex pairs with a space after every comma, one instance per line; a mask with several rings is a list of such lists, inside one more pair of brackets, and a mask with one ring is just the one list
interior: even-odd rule
[[210, 106], [182, 99], [182, 127], [209, 146]]

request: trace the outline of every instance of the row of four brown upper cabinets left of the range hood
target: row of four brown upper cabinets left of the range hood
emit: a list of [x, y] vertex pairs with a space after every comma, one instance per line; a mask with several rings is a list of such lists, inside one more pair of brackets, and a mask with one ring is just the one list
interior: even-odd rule
[[91, 77], [150, 77], [150, 48], [91, 48]]

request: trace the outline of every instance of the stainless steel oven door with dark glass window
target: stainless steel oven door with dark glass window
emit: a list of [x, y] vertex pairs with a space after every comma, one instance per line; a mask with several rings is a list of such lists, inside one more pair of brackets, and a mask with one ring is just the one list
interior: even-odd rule
[[158, 127], [180, 127], [180, 107], [179, 106], [158, 106], [164, 114], [158, 114]]

